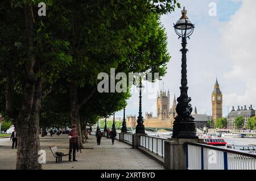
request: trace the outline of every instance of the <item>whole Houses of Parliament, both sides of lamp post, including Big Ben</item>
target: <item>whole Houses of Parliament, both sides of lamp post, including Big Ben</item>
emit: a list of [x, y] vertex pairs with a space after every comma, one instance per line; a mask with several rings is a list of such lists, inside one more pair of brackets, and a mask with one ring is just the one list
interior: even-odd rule
[[[152, 112], [146, 112], [143, 123], [144, 126], [147, 128], [172, 128], [174, 118], [177, 116], [176, 105], [175, 95], [172, 107], [170, 108], [170, 91], [166, 93], [166, 91], [161, 90], [160, 93], [158, 92], [156, 98], [156, 117], [153, 116]], [[196, 107], [192, 116], [195, 118], [197, 128], [207, 126], [209, 120], [216, 122], [217, 118], [222, 117], [222, 92], [220, 91], [217, 79], [212, 92], [212, 116], [198, 114]], [[126, 125], [127, 127], [135, 128], [137, 125], [137, 117], [135, 115], [127, 116]]]

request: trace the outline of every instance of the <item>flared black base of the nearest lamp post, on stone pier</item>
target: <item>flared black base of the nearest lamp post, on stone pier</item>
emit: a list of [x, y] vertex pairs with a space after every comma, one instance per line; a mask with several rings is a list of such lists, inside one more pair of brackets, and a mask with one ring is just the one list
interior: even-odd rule
[[172, 138], [199, 138], [196, 136], [196, 123], [193, 120], [175, 120]]

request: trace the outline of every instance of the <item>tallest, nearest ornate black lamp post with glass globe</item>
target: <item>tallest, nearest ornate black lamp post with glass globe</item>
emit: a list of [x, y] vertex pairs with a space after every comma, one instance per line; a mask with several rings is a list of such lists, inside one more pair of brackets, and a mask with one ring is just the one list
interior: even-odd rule
[[176, 112], [177, 116], [174, 121], [174, 130], [172, 138], [198, 138], [196, 136], [196, 123], [195, 118], [191, 116], [192, 107], [189, 102], [191, 98], [188, 97], [188, 86], [187, 86], [187, 38], [192, 35], [195, 25], [191, 23], [187, 16], [187, 10], [183, 9], [181, 18], [174, 25], [175, 32], [182, 38], [182, 53], [181, 60], [181, 87], [180, 97], [177, 98]]

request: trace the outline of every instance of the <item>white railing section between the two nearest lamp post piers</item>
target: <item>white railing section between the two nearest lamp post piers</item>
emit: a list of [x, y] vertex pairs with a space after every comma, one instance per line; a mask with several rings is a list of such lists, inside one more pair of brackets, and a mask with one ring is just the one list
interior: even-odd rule
[[140, 136], [140, 146], [164, 158], [164, 141], [165, 140], [167, 140], [167, 138]]

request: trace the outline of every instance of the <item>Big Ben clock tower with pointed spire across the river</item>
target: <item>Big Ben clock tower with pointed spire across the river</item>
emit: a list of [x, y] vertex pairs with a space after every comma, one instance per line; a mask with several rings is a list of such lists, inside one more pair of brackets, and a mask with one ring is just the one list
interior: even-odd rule
[[222, 118], [222, 92], [216, 79], [214, 91], [212, 92], [212, 119], [214, 123], [216, 123], [217, 118]]

